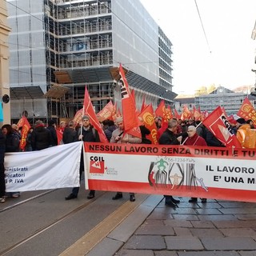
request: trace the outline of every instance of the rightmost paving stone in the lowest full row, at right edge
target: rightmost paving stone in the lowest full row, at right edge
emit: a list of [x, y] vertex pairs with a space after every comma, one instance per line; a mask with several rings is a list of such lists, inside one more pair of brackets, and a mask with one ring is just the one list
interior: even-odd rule
[[252, 238], [201, 238], [206, 250], [256, 250]]

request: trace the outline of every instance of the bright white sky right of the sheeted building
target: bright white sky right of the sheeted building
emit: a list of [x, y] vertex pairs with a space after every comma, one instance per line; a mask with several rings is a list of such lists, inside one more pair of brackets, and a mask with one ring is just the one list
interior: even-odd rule
[[255, 83], [256, 0], [141, 0], [173, 44], [173, 91]]

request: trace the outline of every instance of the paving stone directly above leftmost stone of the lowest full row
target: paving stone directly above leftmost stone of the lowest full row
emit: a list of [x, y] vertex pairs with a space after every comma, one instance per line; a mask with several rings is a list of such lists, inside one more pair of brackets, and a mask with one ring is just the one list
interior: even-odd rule
[[174, 235], [174, 229], [170, 226], [162, 225], [146, 225], [143, 224], [136, 230], [135, 234], [161, 234], [161, 235]]

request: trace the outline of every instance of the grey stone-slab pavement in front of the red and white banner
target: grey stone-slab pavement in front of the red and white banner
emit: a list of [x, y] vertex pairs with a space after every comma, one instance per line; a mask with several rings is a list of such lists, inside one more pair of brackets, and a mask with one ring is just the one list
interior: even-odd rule
[[[179, 198], [174, 209], [158, 199], [129, 238], [107, 238], [118, 250], [110, 254], [106, 250], [105, 256], [256, 256], [255, 203], [211, 199], [189, 203], [189, 198]], [[119, 232], [122, 237], [126, 227]]]

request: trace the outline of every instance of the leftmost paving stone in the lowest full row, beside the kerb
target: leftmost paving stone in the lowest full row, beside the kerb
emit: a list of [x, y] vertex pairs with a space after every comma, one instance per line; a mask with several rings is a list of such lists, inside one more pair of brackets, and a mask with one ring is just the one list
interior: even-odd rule
[[126, 242], [123, 248], [134, 250], [163, 250], [166, 249], [166, 243], [160, 235], [134, 235]]

